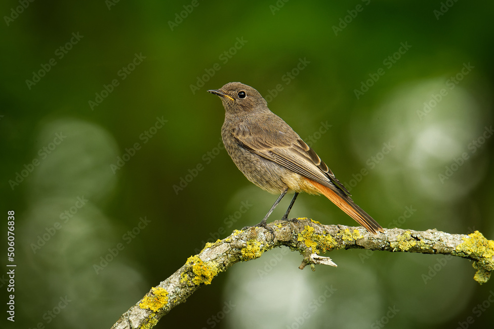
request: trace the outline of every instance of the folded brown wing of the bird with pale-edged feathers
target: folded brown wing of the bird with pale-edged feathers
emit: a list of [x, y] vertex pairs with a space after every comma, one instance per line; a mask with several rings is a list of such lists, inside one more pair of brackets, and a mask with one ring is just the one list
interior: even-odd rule
[[284, 121], [276, 123], [271, 128], [240, 124], [233, 129], [233, 136], [240, 146], [252, 153], [327, 186], [351, 200], [350, 192], [334, 177], [317, 153]]

